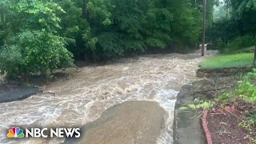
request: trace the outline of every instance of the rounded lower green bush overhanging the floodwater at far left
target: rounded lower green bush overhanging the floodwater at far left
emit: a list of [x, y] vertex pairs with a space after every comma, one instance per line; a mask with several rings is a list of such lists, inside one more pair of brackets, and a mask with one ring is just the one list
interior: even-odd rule
[[47, 75], [54, 69], [71, 66], [72, 54], [65, 39], [45, 30], [23, 31], [11, 36], [0, 50], [0, 71], [11, 78]]

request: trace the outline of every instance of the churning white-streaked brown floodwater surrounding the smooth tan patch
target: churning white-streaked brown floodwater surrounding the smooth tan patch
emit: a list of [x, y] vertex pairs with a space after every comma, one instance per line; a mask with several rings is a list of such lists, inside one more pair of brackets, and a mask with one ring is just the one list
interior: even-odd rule
[[[166, 110], [157, 143], [172, 143], [174, 104], [182, 85], [195, 79], [199, 53], [124, 58], [106, 66], [85, 66], [70, 80], [43, 88], [45, 94], [0, 104], [0, 143], [11, 126], [80, 127], [102, 111], [126, 101], [156, 101]], [[62, 138], [22, 139], [19, 143], [60, 143]]]

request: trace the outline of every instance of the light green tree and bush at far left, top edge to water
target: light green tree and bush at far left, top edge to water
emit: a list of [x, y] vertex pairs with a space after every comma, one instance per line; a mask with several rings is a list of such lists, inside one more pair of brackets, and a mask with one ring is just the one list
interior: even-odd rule
[[56, 34], [61, 28], [57, 13], [64, 13], [57, 3], [21, 0], [10, 2], [9, 6], [12, 14], [5, 25], [8, 37], [0, 49], [2, 73], [12, 78], [27, 78], [72, 64], [66, 41], [74, 40]]

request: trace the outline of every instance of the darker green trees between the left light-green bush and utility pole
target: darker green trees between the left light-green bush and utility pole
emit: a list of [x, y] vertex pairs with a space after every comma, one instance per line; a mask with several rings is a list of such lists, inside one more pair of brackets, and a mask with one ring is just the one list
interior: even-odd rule
[[82, 54], [91, 58], [91, 54], [96, 54], [96, 57], [116, 58], [134, 50], [163, 49], [172, 44], [187, 47], [198, 42], [201, 31], [200, 11], [189, 0], [58, 3], [69, 12], [69, 16], [62, 14], [61, 26], [65, 29], [61, 31], [75, 38], [76, 45], [70, 45], [69, 50], [76, 57]]

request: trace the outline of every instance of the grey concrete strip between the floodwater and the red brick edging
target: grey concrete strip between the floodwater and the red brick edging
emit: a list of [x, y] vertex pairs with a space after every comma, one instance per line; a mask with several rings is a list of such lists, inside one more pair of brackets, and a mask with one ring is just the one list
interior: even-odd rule
[[202, 130], [202, 120], [198, 118], [198, 110], [180, 110], [194, 102], [193, 87], [184, 85], [178, 93], [174, 111], [174, 144], [205, 144], [206, 138]]

